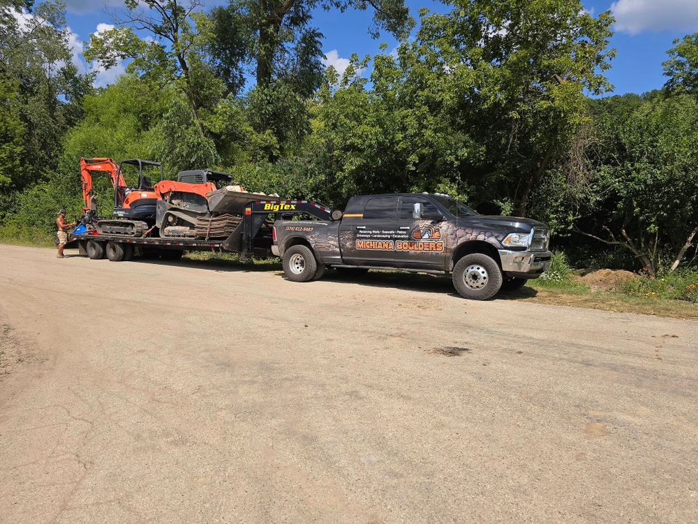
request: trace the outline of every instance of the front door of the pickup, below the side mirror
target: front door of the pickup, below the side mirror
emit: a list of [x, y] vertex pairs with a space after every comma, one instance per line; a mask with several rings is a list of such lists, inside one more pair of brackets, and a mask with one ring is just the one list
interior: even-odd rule
[[[417, 203], [422, 204], [422, 219], [413, 217]], [[447, 238], [443, 220], [443, 212], [429, 198], [418, 195], [401, 197], [395, 265], [401, 268], [443, 269]]]

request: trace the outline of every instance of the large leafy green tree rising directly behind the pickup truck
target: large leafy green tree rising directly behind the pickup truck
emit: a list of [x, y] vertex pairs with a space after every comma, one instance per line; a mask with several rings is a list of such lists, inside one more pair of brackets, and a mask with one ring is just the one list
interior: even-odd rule
[[526, 214], [586, 120], [585, 91], [610, 87], [613, 19], [578, 0], [451, 5], [422, 10], [416, 38], [376, 57], [371, 89], [352, 80], [359, 61], [325, 89], [321, 154], [353, 173], [346, 189], [457, 188]]

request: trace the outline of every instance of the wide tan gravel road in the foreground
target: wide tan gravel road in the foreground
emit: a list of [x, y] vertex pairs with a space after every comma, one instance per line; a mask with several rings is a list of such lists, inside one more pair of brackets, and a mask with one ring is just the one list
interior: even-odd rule
[[0, 245], [3, 523], [698, 521], [698, 323]]

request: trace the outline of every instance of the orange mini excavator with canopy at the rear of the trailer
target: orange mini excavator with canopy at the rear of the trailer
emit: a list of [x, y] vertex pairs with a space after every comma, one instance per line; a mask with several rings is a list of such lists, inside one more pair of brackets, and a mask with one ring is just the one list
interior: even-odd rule
[[[124, 179], [124, 166], [138, 167], [138, 187], [128, 187]], [[80, 159], [80, 184], [84, 224], [91, 224], [102, 235], [140, 236], [155, 224], [158, 194], [151, 179], [143, 175], [143, 169], [155, 167], [163, 180], [163, 166], [159, 162], [128, 159], [117, 167], [112, 159]], [[98, 217], [96, 196], [92, 192], [92, 174], [106, 173], [114, 188], [114, 215]]]

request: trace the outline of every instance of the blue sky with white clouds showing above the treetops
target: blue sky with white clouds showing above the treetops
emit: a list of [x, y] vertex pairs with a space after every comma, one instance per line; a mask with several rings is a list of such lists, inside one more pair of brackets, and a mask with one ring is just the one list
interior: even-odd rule
[[[82, 41], [89, 40], [89, 34], [96, 31], [99, 24], [110, 24], [107, 7], [119, 7], [122, 0], [64, 0], [68, 4], [68, 25], [73, 31], [75, 61], [82, 60]], [[427, 7], [444, 10], [443, 4], [431, 0], [407, 0], [413, 16], [417, 10]], [[582, 0], [587, 10], [600, 13], [612, 10], [616, 16], [615, 34], [611, 46], [618, 55], [613, 68], [607, 73], [615, 86], [615, 94], [646, 92], [662, 87], [662, 61], [674, 38], [698, 31], [698, 0]], [[225, 0], [206, 0], [207, 7], [225, 3]], [[362, 57], [375, 54], [378, 45], [386, 42], [390, 48], [396, 42], [385, 35], [374, 40], [367, 33], [371, 24], [371, 11], [350, 10], [339, 13], [336, 10], [318, 9], [315, 25], [325, 35], [322, 50], [326, 63], [333, 64], [343, 71], [352, 52]], [[96, 83], [105, 85], [113, 82], [120, 69], [101, 71]]]

